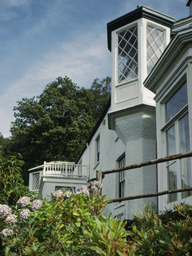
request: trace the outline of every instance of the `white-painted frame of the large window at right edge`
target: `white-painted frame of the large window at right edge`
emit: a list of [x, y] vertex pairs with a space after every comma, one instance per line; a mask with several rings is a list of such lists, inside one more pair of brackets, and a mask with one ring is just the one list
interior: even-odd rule
[[[177, 92], [179, 88], [182, 87], [182, 85], [186, 82], [187, 84], [187, 97], [188, 97], [188, 104], [183, 106], [183, 108], [174, 116], [172, 119], [170, 119], [168, 122], [166, 122], [166, 102], [170, 100], [174, 96], [174, 94]], [[164, 94], [161, 97], [161, 100], [157, 103], [157, 115], [161, 117], [157, 122], [157, 127], [161, 127], [159, 130], [157, 130], [157, 139], [160, 141], [160, 145], [158, 146], [158, 151], [161, 152], [160, 155], [167, 156], [167, 137], [166, 137], [166, 131], [169, 130], [170, 127], [173, 126], [173, 123], [176, 123], [178, 125], [178, 121], [182, 119], [187, 113], [189, 113], [190, 116], [190, 110], [189, 110], [189, 104], [190, 104], [190, 96], [189, 96], [189, 81], [187, 80], [187, 69], [180, 73], [175, 79], [172, 84], [169, 86], [167, 85], [166, 90], [164, 90]], [[166, 92], [166, 93], [165, 93]], [[189, 117], [189, 126], [190, 126], [190, 117]], [[191, 128], [189, 127], [189, 132], [191, 131]], [[190, 133], [191, 134], [191, 133]], [[191, 135], [190, 135], [191, 136]], [[179, 146], [178, 146], [178, 129], [176, 129], [176, 154], [179, 154]], [[190, 144], [191, 148], [191, 144]], [[158, 153], [159, 154], [159, 153]], [[180, 171], [180, 159], [174, 160], [170, 163], [165, 162], [158, 164], [158, 191], [165, 191], [168, 190], [168, 170], [167, 167], [170, 164], [173, 163], [177, 164], [177, 189], [181, 188], [181, 171]], [[191, 161], [192, 162], [192, 161]], [[192, 167], [192, 163], [191, 163]], [[192, 168], [191, 168], [192, 170]], [[191, 171], [191, 178], [192, 178], [192, 171]], [[186, 203], [191, 203], [192, 196], [185, 197], [182, 199], [182, 193], [177, 193], [177, 200], [169, 203], [169, 195], [164, 195], [158, 197], [159, 200], [159, 207], [160, 210], [163, 210], [165, 208], [167, 209], [173, 209], [173, 205], [176, 203], [181, 203], [185, 201]]]

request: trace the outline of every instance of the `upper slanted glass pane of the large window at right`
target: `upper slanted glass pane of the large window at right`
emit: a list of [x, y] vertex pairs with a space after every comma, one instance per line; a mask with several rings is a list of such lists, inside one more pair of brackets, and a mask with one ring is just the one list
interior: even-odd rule
[[166, 121], [168, 122], [174, 115], [180, 112], [187, 103], [187, 84], [185, 83], [166, 103]]

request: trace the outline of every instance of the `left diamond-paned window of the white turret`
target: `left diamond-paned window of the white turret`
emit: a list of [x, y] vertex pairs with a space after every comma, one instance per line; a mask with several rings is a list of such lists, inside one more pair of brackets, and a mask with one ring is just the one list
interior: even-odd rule
[[118, 34], [118, 82], [135, 79], [137, 73], [137, 26], [134, 26]]

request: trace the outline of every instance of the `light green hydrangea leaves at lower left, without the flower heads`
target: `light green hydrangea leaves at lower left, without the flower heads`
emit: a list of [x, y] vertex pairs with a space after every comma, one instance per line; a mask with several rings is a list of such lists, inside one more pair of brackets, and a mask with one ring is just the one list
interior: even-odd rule
[[[105, 196], [98, 197], [104, 209], [108, 200]], [[39, 210], [30, 213], [29, 220], [14, 226], [0, 224], [0, 231], [3, 228], [14, 231], [11, 237], [3, 238], [6, 255], [91, 255], [86, 245], [89, 237], [84, 232], [95, 223], [91, 214], [96, 207], [93, 202], [91, 196], [82, 193], [65, 201], [44, 201]], [[16, 214], [19, 216], [19, 209]]]

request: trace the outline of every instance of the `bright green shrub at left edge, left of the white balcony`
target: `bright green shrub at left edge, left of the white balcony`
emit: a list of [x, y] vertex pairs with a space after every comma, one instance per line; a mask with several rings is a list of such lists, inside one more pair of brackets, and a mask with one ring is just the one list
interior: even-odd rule
[[20, 197], [29, 194], [23, 185], [22, 166], [20, 154], [4, 157], [0, 147], [0, 204], [14, 205]]

